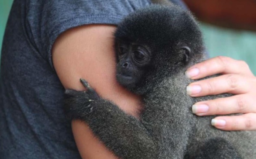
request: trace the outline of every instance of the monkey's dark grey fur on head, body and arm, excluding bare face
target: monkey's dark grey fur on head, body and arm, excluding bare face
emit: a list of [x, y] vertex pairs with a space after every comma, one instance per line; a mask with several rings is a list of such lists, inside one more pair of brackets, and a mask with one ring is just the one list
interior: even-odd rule
[[[255, 131], [221, 131], [210, 125], [212, 116], [191, 112], [195, 102], [228, 94], [186, 94], [193, 81], [184, 72], [206, 59], [202, 34], [189, 11], [158, 5], [141, 9], [120, 23], [115, 38], [149, 46], [153, 53], [150, 69], [135, 85], [126, 86], [143, 96], [141, 119], [100, 98], [84, 80], [87, 91], [65, 92], [71, 119], [85, 121], [121, 159], [256, 159]], [[184, 46], [189, 49], [182, 50]]]

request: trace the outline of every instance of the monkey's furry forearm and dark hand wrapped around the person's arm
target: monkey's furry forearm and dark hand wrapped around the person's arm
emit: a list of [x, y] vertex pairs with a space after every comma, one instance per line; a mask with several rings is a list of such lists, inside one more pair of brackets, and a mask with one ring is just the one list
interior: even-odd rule
[[142, 123], [104, 100], [81, 79], [87, 91], [65, 91], [65, 107], [71, 119], [85, 121], [93, 133], [121, 159], [154, 159], [156, 148]]

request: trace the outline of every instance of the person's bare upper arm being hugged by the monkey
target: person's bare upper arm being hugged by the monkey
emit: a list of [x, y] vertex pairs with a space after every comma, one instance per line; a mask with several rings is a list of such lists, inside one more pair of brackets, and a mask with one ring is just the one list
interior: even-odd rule
[[[61, 34], [52, 48], [54, 68], [66, 89], [84, 90], [85, 78], [100, 96], [112, 100], [121, 109], [139, 115], [139, 98], [115, 80], [112, 25], [85, 25]], [[72, 121], [78, 150], [86, 159], [116, 158], [80, 121]]]

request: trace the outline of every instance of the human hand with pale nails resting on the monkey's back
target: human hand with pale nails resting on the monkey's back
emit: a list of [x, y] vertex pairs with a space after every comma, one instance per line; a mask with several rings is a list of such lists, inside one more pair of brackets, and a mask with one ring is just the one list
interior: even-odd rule
[[[232, 93], [234, 96], [197, 102], [192, 106], [193, 113], [198, 116], [242, 113], [239, 116], [216, 117], [212, 120], [212, 125], [222, 130], [256, 130], [256, 77], [249, 66], [244, 61], [219, 56], [196, 64], [186, 71], [191, 79], [214, 74], [221, 76], [189, 84], [191, 91], [188, 94], [199, 97]], [[199, 87], [192, 89], [191, 86], [195, 85]]]

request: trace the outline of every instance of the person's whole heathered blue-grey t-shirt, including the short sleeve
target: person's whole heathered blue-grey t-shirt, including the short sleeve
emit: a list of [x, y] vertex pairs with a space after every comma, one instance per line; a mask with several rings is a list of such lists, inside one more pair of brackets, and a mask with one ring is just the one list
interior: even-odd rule
[[147, 5], [149, 0], [14, 0], [2, 45], [0, 159], [80, 158], [52, 64], [54, 40], [79, 25], [116, 25]]

